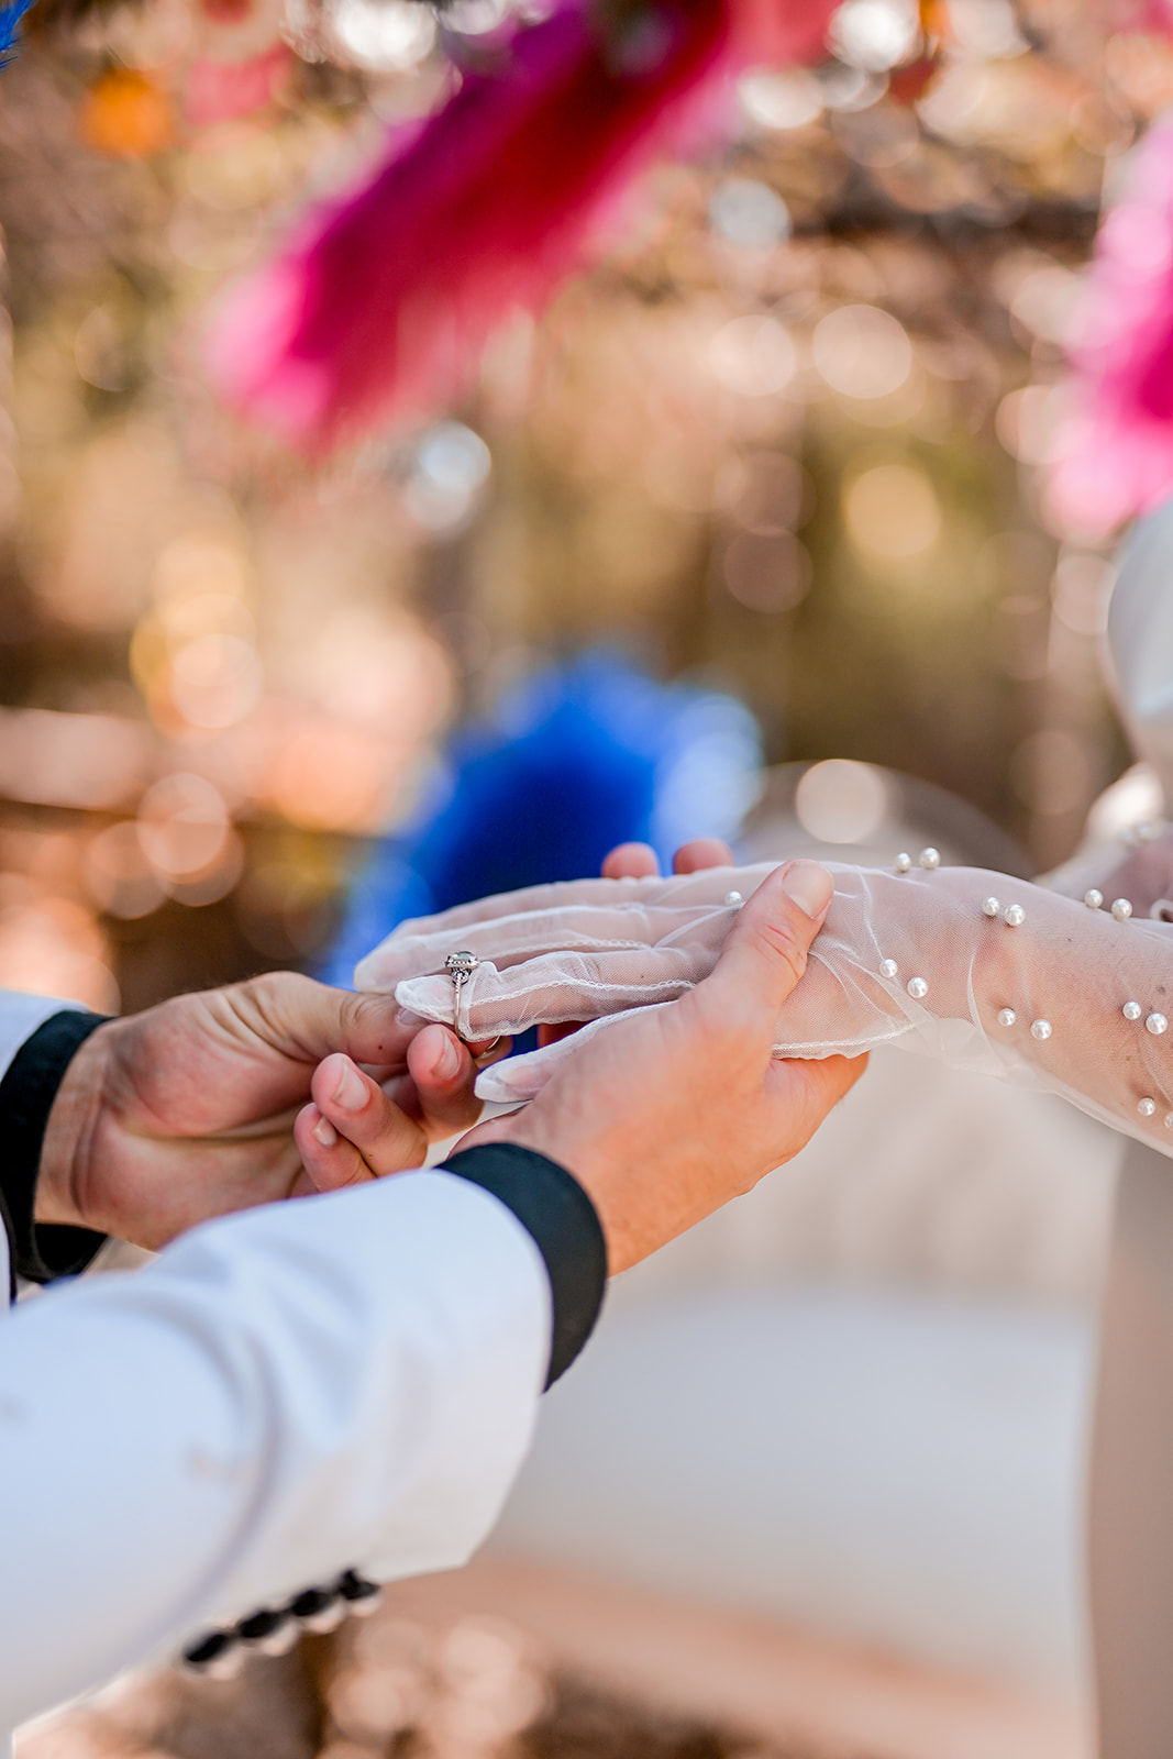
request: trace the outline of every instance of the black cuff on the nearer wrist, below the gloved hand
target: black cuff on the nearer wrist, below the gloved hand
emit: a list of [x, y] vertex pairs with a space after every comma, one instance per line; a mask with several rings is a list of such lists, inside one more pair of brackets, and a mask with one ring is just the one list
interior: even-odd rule
[[550, 1279], [554, 1335], [545, 1384], [552, 1386], [589, 1339], [603, 1305], [607, 1242], [594, 1205], [565, 1166], [512, 1142], [463, 1149], [438, 1171], [491, 1191], [533, 1235]]

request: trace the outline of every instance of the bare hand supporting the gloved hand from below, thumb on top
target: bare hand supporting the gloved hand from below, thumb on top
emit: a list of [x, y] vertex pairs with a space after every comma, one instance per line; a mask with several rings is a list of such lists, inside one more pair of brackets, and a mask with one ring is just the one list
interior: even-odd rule
[[533, 1105], [482, 1124], [466, 1145], [517, 1142], [566, 1166], [598, 1210], [612, 1274], [751, 1191], [809, 1142], [865, 1066], [772, 1057], [830, 892], [812, 862], [777, 869], [702, 983], [616, 1022]]

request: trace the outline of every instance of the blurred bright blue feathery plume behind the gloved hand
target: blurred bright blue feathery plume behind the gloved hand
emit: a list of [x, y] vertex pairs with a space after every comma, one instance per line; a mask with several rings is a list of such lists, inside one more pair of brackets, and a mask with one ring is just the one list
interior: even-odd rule
[[598, 649], [550, 665], [452, 737], [412, 823], [359, 874], [322, 976], [350, 985], [408, 916], [596, 874], [617, 843], [651, 843], [668, 871], [688, 837], [735, 836], [760, 774], [756, 723], [732, 697]]

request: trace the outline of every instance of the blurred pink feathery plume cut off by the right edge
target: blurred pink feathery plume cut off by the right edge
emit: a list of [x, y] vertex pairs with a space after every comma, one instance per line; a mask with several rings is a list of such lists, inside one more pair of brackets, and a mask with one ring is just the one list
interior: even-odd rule
[[1103, 535], [1173, 493], [1173, 121], [1099, 229], [1069, 354], [1048, 501], [1060, 528]]

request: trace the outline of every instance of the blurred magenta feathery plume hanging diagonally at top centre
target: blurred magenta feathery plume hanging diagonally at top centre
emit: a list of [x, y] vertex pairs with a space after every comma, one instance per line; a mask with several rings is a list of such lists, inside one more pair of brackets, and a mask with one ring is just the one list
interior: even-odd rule
[[514, 28], [455, 95], [213, 313], [218, 394], [322, 454], [468, 389], [630, 179], [710, 120], [737, 67], [821, 51], [835, 0], [593, 0]]

